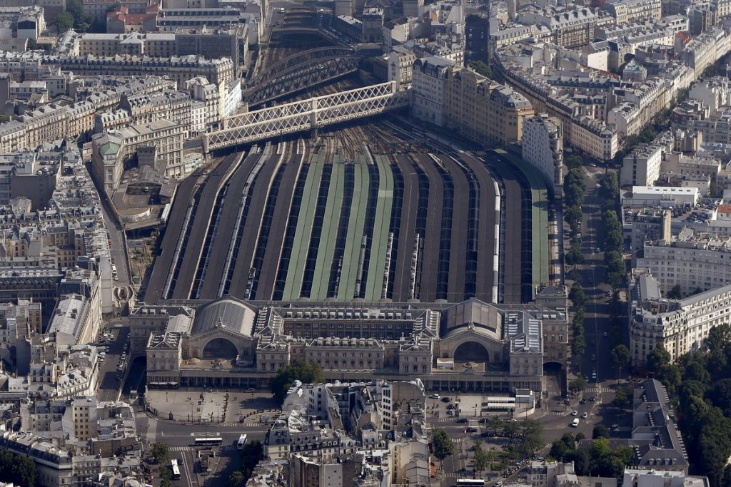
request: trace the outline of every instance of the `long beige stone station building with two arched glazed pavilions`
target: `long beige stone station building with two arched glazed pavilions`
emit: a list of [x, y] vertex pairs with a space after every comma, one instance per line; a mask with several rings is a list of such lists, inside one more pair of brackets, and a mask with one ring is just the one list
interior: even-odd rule
[[[419, 310], [256, 308], [227, 297], [198, 307], [192, 320], [188, 310], [144, 306], [132, 312], [132, 353], [147, 354], [151, 387], [259, 387], [292, 361], [312, 361], [326, 380], [419, 377], [433, 390], [539, 391], [545, 362], [565, 367], [568, 321], [565, 288], [537, 296], [507, 310], [476, 299]], [[140, 350], [145, 333], [153, 338]], [[164, 366], [153, 373], [157, 359]]]

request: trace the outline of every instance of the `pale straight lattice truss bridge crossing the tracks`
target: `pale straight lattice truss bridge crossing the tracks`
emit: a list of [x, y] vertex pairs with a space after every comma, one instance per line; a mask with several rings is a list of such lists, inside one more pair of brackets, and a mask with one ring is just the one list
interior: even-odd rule
[[317, 96], [224, 118], [223, 129], [205, 134], [203, 149], [208, 153], [408, 106], [409, 91], [397, 91], [395, 81]]

